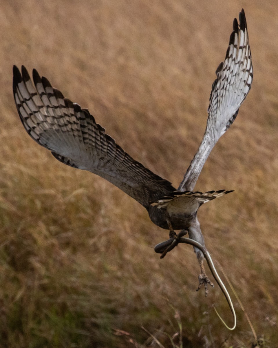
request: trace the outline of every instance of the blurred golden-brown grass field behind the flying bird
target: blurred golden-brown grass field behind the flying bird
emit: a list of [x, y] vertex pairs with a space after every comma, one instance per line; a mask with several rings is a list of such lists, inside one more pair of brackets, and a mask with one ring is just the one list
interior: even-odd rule
[[242, 7], [252, 89], [196, 187], [235, 192], [198, 216], [262, 346], [278, 346], [276, 1], [2, 0], [0, 347], [169, 348], [162, 331], [171, 337], [180, 325], [177, 347], [251, 348], [251, 327], [230, 288], [233, 332], [213, 310], [231, 323], [219, 288], [207, 298], [195, 291], [193, 248], [180, 245], [160, 260], [153, 247], [168, 232], [112, 184], [36, 144], [12, 93], [13, 64], [36, 68], [178, 187], [201, 142], [215, 69]]

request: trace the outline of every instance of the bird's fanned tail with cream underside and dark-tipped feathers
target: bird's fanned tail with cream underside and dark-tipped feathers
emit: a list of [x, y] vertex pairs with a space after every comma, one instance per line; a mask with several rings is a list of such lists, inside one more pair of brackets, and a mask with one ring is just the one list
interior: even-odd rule
[[221, 197], [233, 191], [219, 190], [219, 191], [173, 191], [164, 197], [160, 197], [156, 201], [150, 202], [152, 206], [158, 209], [167, 209], [167, 211], [174, 211], [176, 214], [194, 214], [197, 212], [199, 206]]

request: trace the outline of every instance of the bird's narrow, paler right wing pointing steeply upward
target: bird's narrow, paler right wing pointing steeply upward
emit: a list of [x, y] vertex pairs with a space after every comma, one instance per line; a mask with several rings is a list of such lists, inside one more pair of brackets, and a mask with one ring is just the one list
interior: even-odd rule
[[212, 84], [206, 131], [178, 190], [193, 190], [198, 176], [215, 143], [234, 122], [239, 106], [248, 94], [253, 79], [251, 51], [244, 10], [239, 25], [234, 19], [233, 31], [224, 62], [216, 69]]

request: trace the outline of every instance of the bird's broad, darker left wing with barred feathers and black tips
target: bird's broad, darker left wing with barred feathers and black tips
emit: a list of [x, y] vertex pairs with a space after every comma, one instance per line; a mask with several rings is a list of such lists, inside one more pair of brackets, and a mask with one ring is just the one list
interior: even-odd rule
[[33, 80], [14, 66], [17, 111], [28, 134], [59, 161], [108, 180], [148, 208], [149, 201], [175, 189], [117, 145], [87, 109], [64, 98], [33, 70]]

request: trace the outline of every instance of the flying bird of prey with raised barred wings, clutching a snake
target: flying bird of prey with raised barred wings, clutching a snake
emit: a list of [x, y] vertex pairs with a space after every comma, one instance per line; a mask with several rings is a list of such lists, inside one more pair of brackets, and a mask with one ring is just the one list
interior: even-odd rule
[[[97, 115], [65, 98], [35, 69], [34, 85], [24, 66], [21, 72], [14, 66], [13, 73], [15, 103], [28, 134], [62, 163], [103, 177], [143, 205], [157, 226], [170, 231], [169, 240], [155, 247], [162, 257], [188, 232], [197, 242], [194, 245], [202, 245], [194, 246], [201, 267], [198, 289], [204, 285], [207, 294], [212, 284], [203, 266], [206, 249], [197, 211], [203, 203], [231, 191], [193, 189], [212, 148], [234, 122], [251, 88], [253, 68], [244, 10], [239, 24], [234, 19], [225, 60], [216, 69], [203, 140], [178, 189], [129, 156], [96, 123]], [[175, 230], [181, 232], [177, 235]]]

